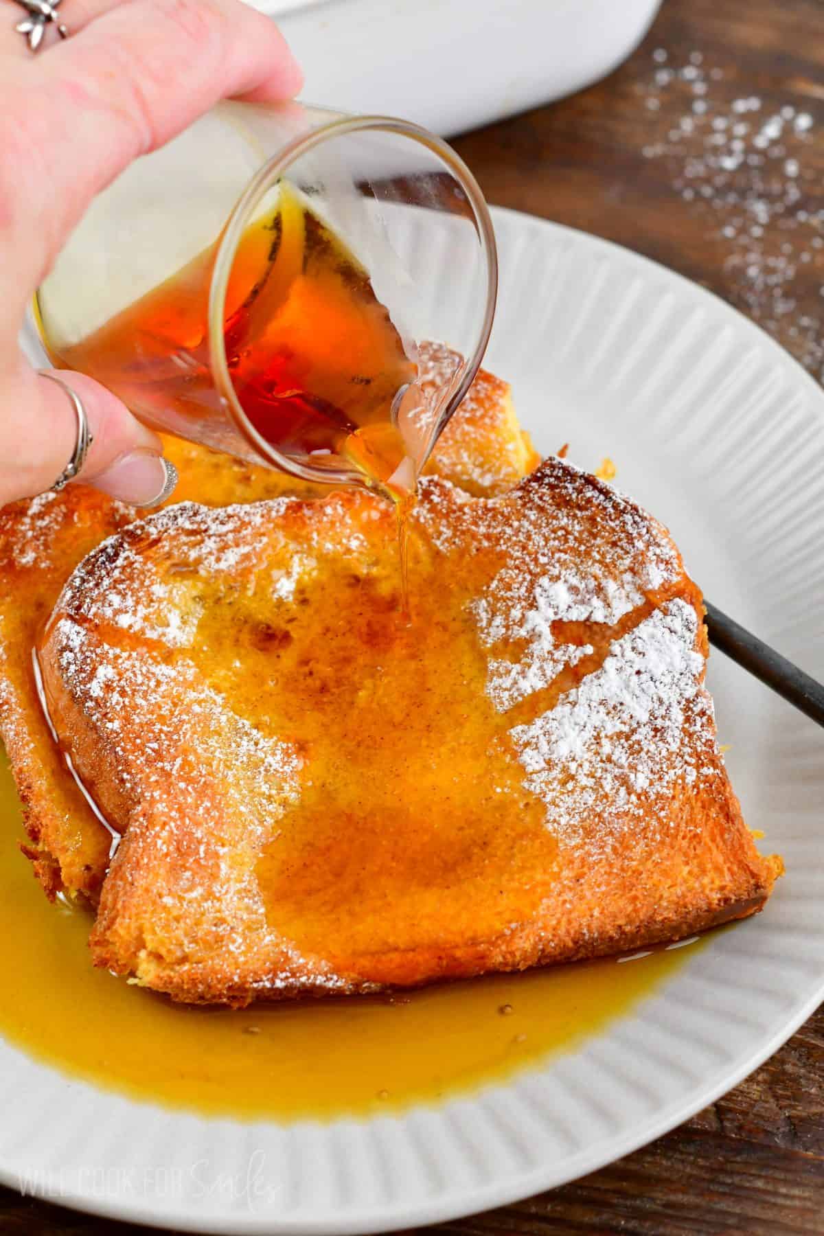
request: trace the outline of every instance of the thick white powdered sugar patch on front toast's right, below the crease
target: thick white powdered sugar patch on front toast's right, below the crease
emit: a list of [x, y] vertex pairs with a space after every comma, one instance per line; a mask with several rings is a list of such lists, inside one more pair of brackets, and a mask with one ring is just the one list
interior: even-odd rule
[[668, 602], [615, 640], [555, 708], [511, 729], [526, 787], [547, 803], [562, 844], [587, 833], [588, 844], [607, 848], [649, 811], [650, 795], [714, 771], [697, 763], [715, 750], [697, 630], [692, 606]]

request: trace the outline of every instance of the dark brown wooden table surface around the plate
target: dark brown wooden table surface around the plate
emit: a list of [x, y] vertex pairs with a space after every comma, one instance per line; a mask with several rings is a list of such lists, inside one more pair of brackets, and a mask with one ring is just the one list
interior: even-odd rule
[[[650, 36], [605, 82], [456, 145], [489, 201], [681, 271], [820, 378], [823, 35], [820, 0], [663, 0]], [[142, 1229], [0, 1190], [0, 1231]], [[645, 1149], [431, 1231], [824, 1232], [824, 1010], [747, 1082]]]

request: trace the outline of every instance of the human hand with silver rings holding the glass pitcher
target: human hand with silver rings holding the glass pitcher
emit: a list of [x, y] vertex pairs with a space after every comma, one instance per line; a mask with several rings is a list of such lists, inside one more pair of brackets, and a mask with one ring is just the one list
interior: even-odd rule
[[[240, 0], [63, 0], [69, 37], [47, 28], [36, 54], [15, 30], [23, 16], [0, 0], [0, 506], [51, 488], [74, 451], [72, 400], [17, 337], [91, 199], [220, 99], [301, 84], [274, 23]], [[152, 506], [168, 487], [161, 439], [98, 382], [56, 373], [93, 434], [79, 480]]]

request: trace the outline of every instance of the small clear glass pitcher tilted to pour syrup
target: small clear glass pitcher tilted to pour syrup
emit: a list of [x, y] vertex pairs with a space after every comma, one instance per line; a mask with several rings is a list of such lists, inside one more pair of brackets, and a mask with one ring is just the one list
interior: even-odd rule
[[[292, 273], [284, 274], [278, 262], [288, 267], [288, 255], [273, 263], [271, 253], [275, 242], [285, 253], [289, 219], [300, 243], [292, 248]], [[264, 310], [282, 304], [278, 279], [285, 287], [295, 271], [305, 273], [308, 230], [326, 273], [334, 272], [334, 288], [329, 281], [313, 284], [314, 309], [304, 308], [295, 326], [279, 309]], [[340, 251], [330, 248], [336, 242]], [[338, 252], [353, 258], [348, 267], [348, 258], [337, 261]], [[257, 255], [257, 273], [250, 255]], [[361, 274], [353, 278], [352, 269]], [[359, 313], [367, 345], [378, 337], [374, 331], [383, 344], [398, 341], [403, 363], [414, 362], [424, 340], [451, 349], [448, 363], [427, 376], [426, 415], [418, 419], [419, 471], [483, 357], [498, 266], [477, 182], [444, 141], [418, 125], [299, 103], [221, 103], [133, 162], [93, 201], [38, 289], [35, 310], [53, 363], [96, 378], [153, 428], [306, 481], [369, 485], [368, 468], [341, 451], [340, 435], [324, 436], [329, 399], [300, 404], [303, 413], [298, 408], [294, 423], [283, 428], [278, 409], [290, 399], [295, 412], [295, 389], [283, 383], [275, 389], [271, 376], [268, 384], [245, 386], [237, 361], [266, 331], [267, 347], [285, 358], [290, 375], [320, 384], [315, 396], [324, 394], [330, 373], [336, 391], [343, 381], [361, 383], [362, 391], [379, 384], [379, 376], [356, 372], [351, 332], [335, 335], [330, 328], [324, 340], [313, 335], [315, 324], [329, 318], [322, 297], [351, 300], [358, 281], [359, 294], [366, 287], [372, 297], [372, 316], [363, 319], [363, 304], [347, 304], [355, 316], [341, 320], [353, 321]], [[240, 342], [236, 321], [247, 336]], [[311, 358], [315, 368], [306, 367], [301, 349], [322, 353]], [[415, 365], [406, 372], [414, 381]], [[293, 377], [289, 382], [295, 384]], [[351, 391], [343, 419], [357, 429], [364, 397]], [[264, 424], [257, 414], [261, 400]], [[397, 398], [395, 420], [399, 409], [403, 399]]]

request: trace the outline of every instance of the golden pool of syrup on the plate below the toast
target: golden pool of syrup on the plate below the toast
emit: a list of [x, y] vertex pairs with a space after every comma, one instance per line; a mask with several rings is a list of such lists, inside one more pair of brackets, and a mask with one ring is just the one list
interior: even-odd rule
[[0, 753], [0, 1036], [72, 1078], [203, 1115], [369, 1115], [503, 1082], [631, 1014], [698, 947], [394, 997], [189, 1009], [91, 967], [89, 916], [47, 902], [22, 836]]

